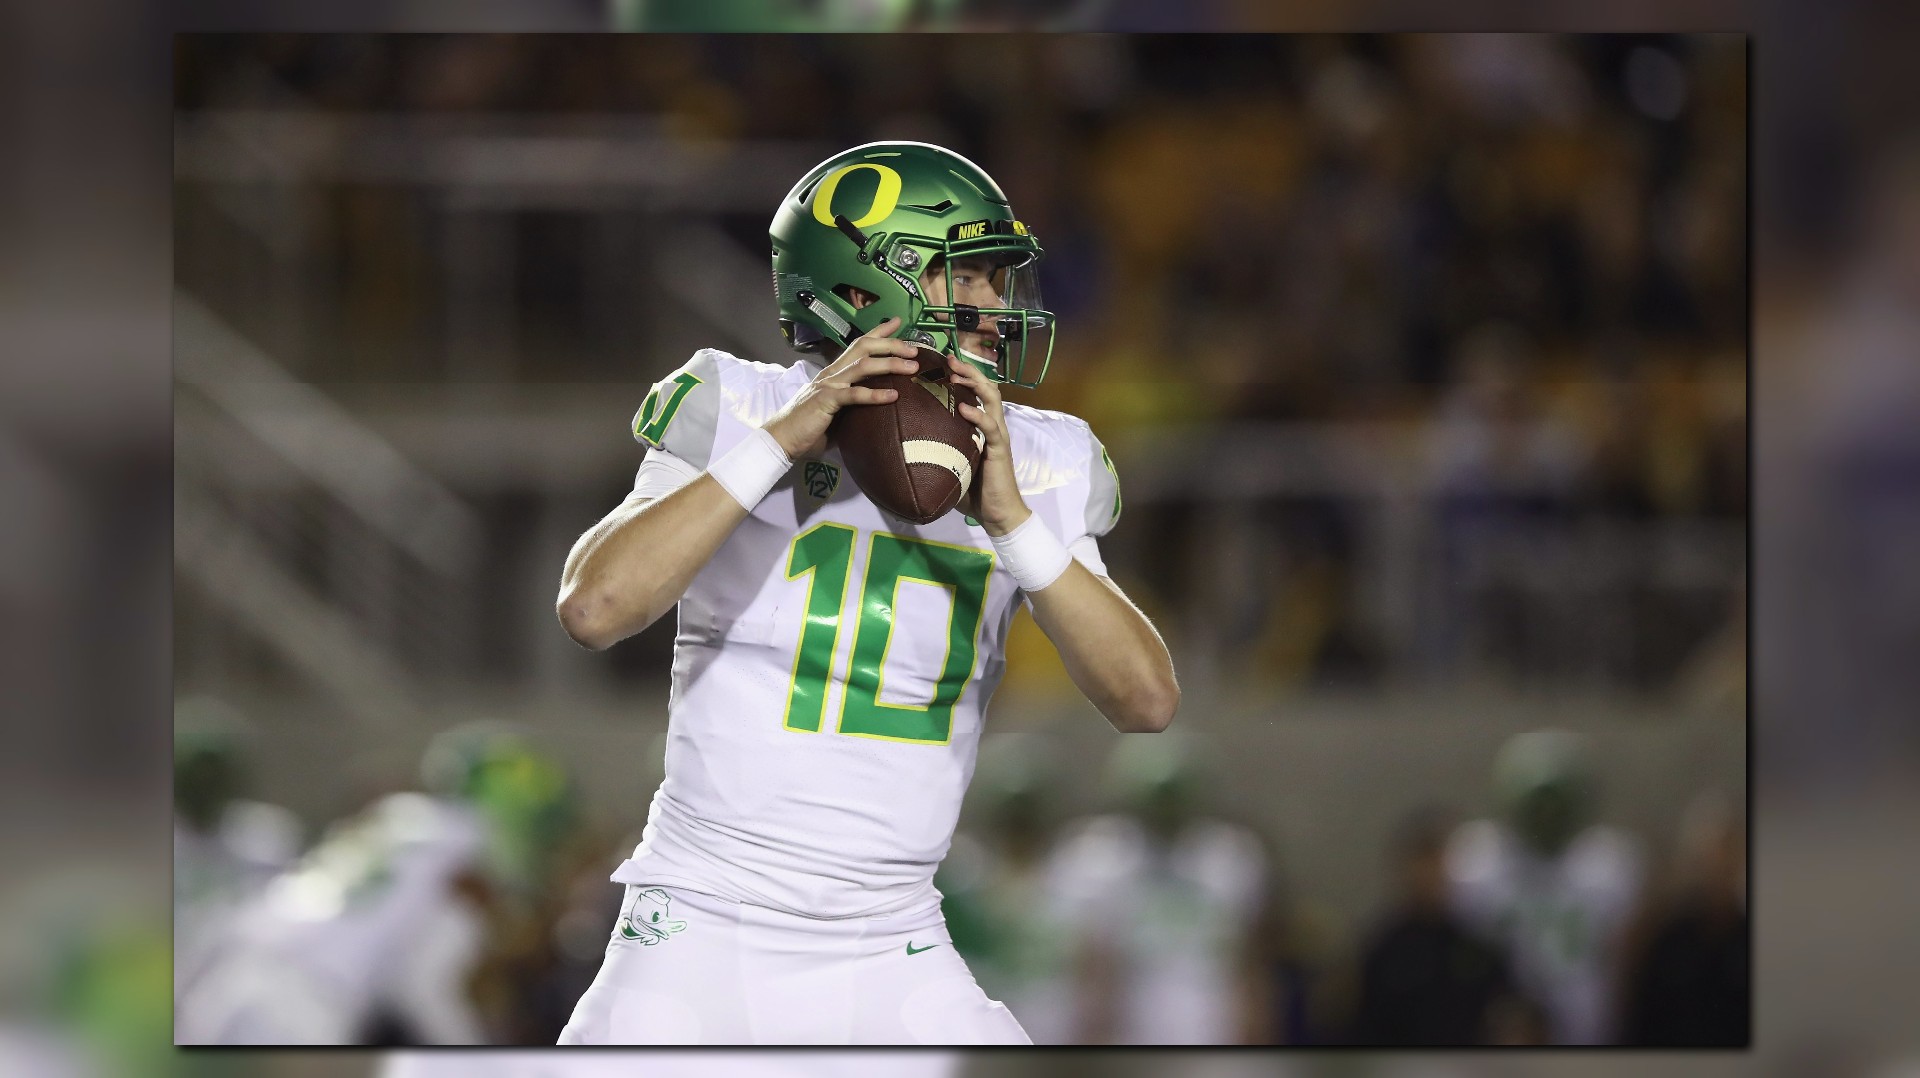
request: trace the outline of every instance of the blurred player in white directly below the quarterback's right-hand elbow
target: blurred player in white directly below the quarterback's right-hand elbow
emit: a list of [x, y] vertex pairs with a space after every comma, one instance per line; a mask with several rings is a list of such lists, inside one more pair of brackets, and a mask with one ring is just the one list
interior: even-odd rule
[[1123, 811], [1062, 842], [1062, 911], [1077, 945], [1073, 1043], [1269, 1040], [1256, 932], [1260, 836], [1204, 811], [1208, 769], [1185, 738], [1121, 742], [1106, 786]]

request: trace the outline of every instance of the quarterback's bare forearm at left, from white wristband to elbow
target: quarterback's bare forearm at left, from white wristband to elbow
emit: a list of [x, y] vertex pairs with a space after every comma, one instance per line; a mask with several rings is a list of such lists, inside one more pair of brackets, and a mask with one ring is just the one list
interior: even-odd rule
[[561, 626], [595, 651], [647, 628], [745, 519], [747, 509], [710, 475], [659, 500], [622, 502], [566, 555], [555, 607]]

